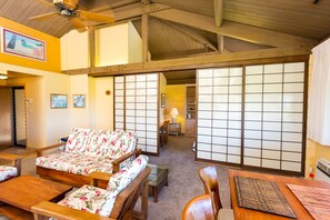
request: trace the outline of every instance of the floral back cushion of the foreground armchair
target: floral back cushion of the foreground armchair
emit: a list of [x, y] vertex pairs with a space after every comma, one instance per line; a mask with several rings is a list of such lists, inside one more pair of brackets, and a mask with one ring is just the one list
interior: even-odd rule
[[117, 196], [143, 170], [148, 163], [147, 156], [139, 156], [131, 163], [128, 163], [122, 170], [111, 176], [104, 203], [101, 207], [100, 216], [109, 217]]

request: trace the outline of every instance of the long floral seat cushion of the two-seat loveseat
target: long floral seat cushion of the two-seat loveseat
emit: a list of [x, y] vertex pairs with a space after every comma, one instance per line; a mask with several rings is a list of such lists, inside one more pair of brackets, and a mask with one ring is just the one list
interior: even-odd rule
[[112, 173], [111, 160], [73, 152], [58, 152], [39, 157], [36, 164], [76, 174], [89, 176], [93, 171]]

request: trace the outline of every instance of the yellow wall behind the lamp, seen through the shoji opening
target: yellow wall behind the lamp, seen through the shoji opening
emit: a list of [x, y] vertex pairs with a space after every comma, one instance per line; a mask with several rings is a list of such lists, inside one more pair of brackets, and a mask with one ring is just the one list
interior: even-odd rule
[[171, 120], [170, 111], [171, 108], [178, 108], [179, 116], [177, 122], [181, 123], [181, 132], [184, 132], [186, 128], [186, 84], [170, 84], [167, 86], [167, 103], [166, 103], [166, 120]]

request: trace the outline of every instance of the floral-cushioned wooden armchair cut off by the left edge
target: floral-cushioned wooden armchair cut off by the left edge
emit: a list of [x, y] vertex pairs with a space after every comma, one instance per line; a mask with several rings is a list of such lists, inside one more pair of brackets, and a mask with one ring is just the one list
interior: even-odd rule
[[0, 166], [0, 182], [21, 174], [20, 156], [0, 153], [0, 159], [11, 161], [11, 166]]

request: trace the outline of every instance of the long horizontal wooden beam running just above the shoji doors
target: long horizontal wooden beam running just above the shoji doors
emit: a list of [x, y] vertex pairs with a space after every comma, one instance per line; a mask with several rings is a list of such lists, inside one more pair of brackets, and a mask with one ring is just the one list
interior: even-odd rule
[[[129, 64], [117, 64], [108, 67], [84, 68], [77, 70], [67, 70], [63, 73], [68, 74], [86, 74], [91, 77], [101, 76], [116, 76], [127, 73], [141, 73], [141, 72], [160, 72], [170, 70], [186, 70], [198, 68], [211, 68], [211, 67], [228, 67], [239, 64], [256, 64], [263, 63], [264, 60], [269, 62], [269, 59], [276, 62], [289, 59], [287, 57], [301, 57], [309, 59], [311, 53], [310, 47], [298, 48], [271, 48], [254, 51], [232, 52], [232, 53], [218, 53], [209, 56], [199, 56], [193, 58], [180, 58], [160, 61], [149, 61]], [[296, 59], [297, 60], [297, 59]], [[263, 62], [262, 62], [263, 61]], [[288, 60], [287, 60], [288, 61]]]

